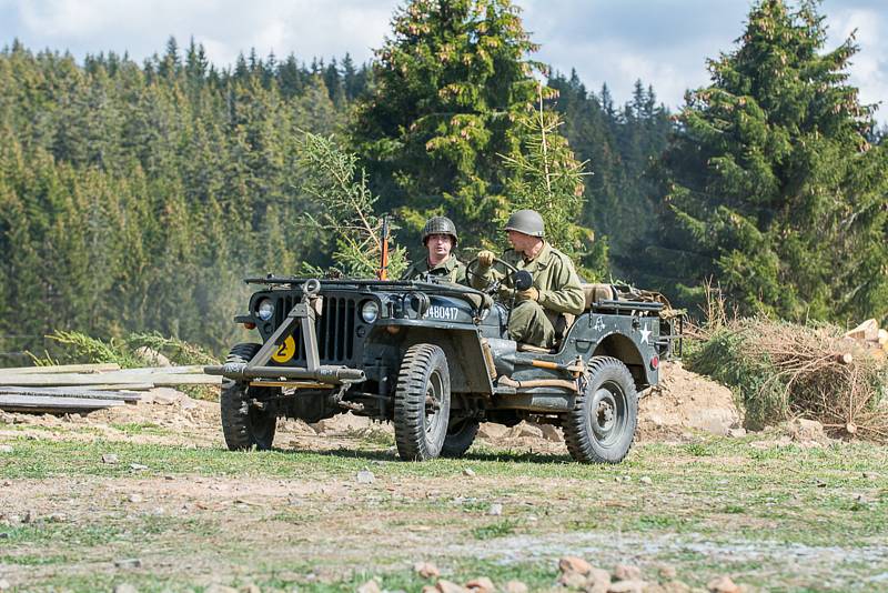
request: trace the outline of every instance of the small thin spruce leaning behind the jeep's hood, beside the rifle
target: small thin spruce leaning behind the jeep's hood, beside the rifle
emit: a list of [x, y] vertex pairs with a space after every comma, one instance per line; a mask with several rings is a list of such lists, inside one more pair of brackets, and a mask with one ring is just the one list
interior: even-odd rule
[[[300, 163], [305, 171], [303, 190], [320, 211], [307, 215], [310, 232], [321, 231], [335, 245], [333, 261], [349, 278], [373, 278], [380, 268], [383, 219], [374, 212], [377, 197], [367, 188], [357, 158], [344, 152], [331, 138], [305, 133]], [[406, 269], [404, 249], [390, 244], [389, 277]]]

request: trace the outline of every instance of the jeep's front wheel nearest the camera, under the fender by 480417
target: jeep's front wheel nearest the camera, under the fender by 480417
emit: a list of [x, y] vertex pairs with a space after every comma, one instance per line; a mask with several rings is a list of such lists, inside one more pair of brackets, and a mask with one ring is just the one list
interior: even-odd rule
[[451, 375], [444, 351], [433, 344], [407, 349], [395, 389], [395, 442], [404, 461], [441, 454], [451, 415]]

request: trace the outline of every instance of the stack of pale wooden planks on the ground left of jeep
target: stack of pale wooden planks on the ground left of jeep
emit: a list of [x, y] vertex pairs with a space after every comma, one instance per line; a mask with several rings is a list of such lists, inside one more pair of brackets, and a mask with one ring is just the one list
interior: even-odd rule
[[0, 410], [89, 412], [135, 403], [158, 386], [214, 385], [203, 366], [121, 369], [117, 364], [60, 364], [0, 369]]

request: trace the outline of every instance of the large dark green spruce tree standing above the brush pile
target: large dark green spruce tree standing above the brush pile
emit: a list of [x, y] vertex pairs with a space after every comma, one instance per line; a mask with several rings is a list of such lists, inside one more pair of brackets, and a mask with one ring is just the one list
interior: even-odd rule
[[645, 278], [685, 303], [716, 278], [744, 312], [888, 315], [888, 155], [847, 83], [850, 38], [824, 51], [817, 2], [761, 0], [709, 61], [665, 157]]

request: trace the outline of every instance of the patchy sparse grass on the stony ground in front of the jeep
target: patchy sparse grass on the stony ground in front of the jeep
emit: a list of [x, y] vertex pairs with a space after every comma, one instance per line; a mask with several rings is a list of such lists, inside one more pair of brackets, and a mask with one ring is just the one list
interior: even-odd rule
[[[158, 430], [151, 423], [115, 428]], [[29, 587], [72, 591], [110, 590], [123, 581], [139, 591], [201, 591], [219, 575], [224, 584], [254, 583], [263, 591], [353, 591], [373, 576], [383, 589], [417, 591], [430, 584], [411, 569], [423, 559], [455, 582], [486, 575], [539, 591], [553, 585], [555, 561], [566, 554], [605, 567], [632, 559], [647, 569], [668, 562], [694, 586], [731, 573], [757, 586], [817, 590], [839, 586], [829, 581], [835, 573], [865, 591], [878, 589], [867, 577], [888, 572], [886, 448], [758, 449], [750, 435], [642, 444], [619, 465], [493, 448], [461, 460], [404, 463], [376, 436], [356, 438], [349, 450], [232, 453], [13, 433], [4, 441], [13, 452], [0, 460], [0, 484], [9, 481], [74, 515], [6, 525], [0, 517], [0, 565], [13, 584], [27, 573]], [[107, 453], [119, 462], [103, 463]], [[148, 470], [133, 471], [130, 463]], [[374, 473], [372, 484], [355, 481], [365, 468]], [[465, 476], [465, 468], [475, 475]], [[238, 504], [234, 491], [204, 486], [193, 496], [208, 499], [209, 507], [195, 509], [188, 499], [190, 510], [182, 511], [176, 490], [163, 486], [204, 479], [231, 489], [265, 481], [275, 492], [299, 495], [256, 495]], [[56, 492], [60, 484], [68, 490]], [[151, 486], [155, 497], [128, 504], [121, 492], [145, 484], [159, 484]], [[0, 486], [0, 495], [3, 488], [10, 486]], [[503, 505], [502, 516], [487, 515], [494, 502]], [[168, 512], [153, 514], [155, 505]], [[805, 567], [810, 574], [797, 574], [795, 560], [787, 560], [796, 556], [780, 556], [790, 549], [825, 560]], [[145, 565], [122, 571], [112, 562], [120, 557], [142, 557]]]

